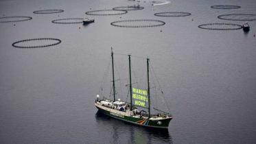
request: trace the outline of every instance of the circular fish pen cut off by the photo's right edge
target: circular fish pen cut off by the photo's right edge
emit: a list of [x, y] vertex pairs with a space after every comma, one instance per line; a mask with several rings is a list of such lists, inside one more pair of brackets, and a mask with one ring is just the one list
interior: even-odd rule
[[256, 14], [222, 14], [218, 19], [229, 21], [256, 21]]

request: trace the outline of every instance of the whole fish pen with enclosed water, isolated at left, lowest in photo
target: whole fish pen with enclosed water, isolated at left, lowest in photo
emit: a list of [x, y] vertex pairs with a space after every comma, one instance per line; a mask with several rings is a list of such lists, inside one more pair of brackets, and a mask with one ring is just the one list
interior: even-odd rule
[[19, 40], [12, 43], [16, 48], [39, 48], [39, 47], [51, 47], [61, 43], [58, 38], [33, 38], [27, 40]]

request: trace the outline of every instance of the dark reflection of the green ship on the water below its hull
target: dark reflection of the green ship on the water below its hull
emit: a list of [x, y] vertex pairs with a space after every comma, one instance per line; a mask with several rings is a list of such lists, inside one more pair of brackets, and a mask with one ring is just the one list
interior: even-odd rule
[[[113, 134], [113, 143], [172, 143], [167, 129], [158, 130], [154, 128], [141, 127], [124, 121], [108, 117], [100, 112], [95, 114], [97, 125], [109, 130]], [[108, 128], [106, 128], [108, 127]]]

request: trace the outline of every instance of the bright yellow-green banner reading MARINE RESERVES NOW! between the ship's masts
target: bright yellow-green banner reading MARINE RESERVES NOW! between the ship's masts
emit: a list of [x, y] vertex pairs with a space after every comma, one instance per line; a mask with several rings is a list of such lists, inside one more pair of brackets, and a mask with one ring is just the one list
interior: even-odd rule
[[135, 106], [141, 106], [147, 108], [146, 103], [148, 102], [148, 91], [132, 88], [132, 101]]

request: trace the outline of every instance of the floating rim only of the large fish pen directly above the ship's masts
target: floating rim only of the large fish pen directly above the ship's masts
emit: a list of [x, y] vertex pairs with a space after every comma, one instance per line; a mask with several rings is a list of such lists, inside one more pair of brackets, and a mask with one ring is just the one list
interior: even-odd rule
[[[118, 25], [117, 23], [130, 23], [130, 22], [156, 22], [159, 24], [156, 25]], [[110, 25], [113, 25], [115, 27], [159, 27], [162, 25], [165, 25], [164, 21], [159, 21], [159, 20], [154, 20], [154, 19], [135, 19], [135, 20], [124, 20], [124, 21], [114, 21], [112, 23], [110, 23]]]

